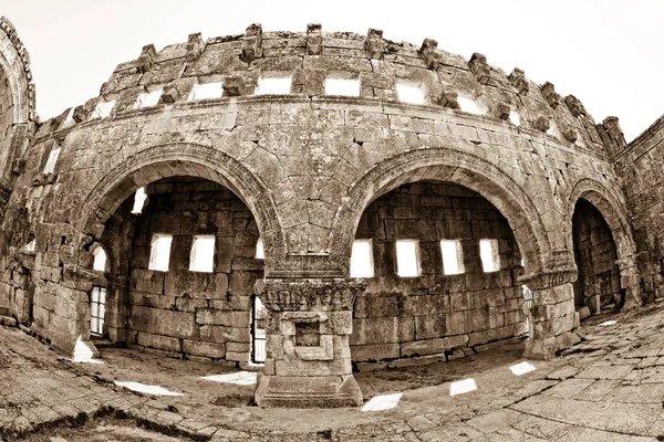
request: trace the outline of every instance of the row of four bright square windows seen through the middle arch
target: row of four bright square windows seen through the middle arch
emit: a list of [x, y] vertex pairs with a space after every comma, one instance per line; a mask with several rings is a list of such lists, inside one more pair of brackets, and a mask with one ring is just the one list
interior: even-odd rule
[[[417, 240], [396, 241], [396, 274], [401, 277], [416, 277], [422, 274], [419, 265], [419, 242]], [[458, 240], [442, 240], [443, 272], [446, 275], [465, 273], [464, 251]], [[479, 257], [485, 273], [500, 270], [498, 240], [479, 240]], [[373, 277], [374, 264], [371, 240], [353, 241], [351, 252], [351, 277]]]

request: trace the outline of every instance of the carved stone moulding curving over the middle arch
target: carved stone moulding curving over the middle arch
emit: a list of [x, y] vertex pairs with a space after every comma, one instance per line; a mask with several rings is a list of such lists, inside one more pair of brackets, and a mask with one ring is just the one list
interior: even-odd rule
[[419, 180], [465, 186], [491, 202], [507, 219], [521, 250], [528, 274], [551, 265], [551, 246], [543, 222], [526, 191], [505, 171], [471, 154], [432, 148], [394, 156], [376, 165], [350, 190], [350, 201], [335, 220], [333, 250], [350, 261], [362, 212], [371, 201], [404, 183]]

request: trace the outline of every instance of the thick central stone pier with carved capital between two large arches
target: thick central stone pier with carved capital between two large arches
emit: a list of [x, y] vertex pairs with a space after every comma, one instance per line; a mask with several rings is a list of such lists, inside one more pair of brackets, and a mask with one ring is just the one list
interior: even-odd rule
[[256, 283], [256, 295], [270, 312], [256, 403], [289, 408], [362, 404], [349, 336], [355, 296], [365, 287], [364, 282], [345, 278]]

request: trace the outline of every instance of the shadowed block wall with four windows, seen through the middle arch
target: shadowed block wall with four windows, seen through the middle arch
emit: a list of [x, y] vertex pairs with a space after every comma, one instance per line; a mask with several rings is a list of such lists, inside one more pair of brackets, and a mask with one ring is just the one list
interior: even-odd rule
[[[461, 348], [521, 336], [519, 248], [500, 212], [479, 193], [437, 182], [404, 185], [372, 202], [356, 239], [371, 239], [374, 277], [353, 311], [353, 361], [417, 355], [463, 356]], [[395, 241], [418, 240], [422, 275], [396, 275]], [[460, 240], [465, 273], [445, 275], [440, 240]], [[484, 273], [479, 240], [497, 239], [500, 270]]]

